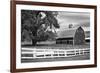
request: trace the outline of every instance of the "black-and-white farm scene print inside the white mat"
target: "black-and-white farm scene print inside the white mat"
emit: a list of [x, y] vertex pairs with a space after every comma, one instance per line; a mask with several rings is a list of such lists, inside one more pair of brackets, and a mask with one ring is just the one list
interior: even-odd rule
[[90, 13], [21, 10], [21, 63], [90, 59]]

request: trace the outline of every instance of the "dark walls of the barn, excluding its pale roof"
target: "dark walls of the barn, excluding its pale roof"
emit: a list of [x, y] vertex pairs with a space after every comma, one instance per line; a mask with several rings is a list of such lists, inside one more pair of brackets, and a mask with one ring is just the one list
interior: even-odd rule
[[[85, 33], [82, 27], [77, 28], [71, 35], [66, 35], [66, 37], [60, 37], [56, 39], [56, 44], [68, 44], [68, 45], [82, 45], [85, 44]], [[70, 31], [64, 31], [64, 33], [69, 33]], [[63, 34], [64, 34], [63, 33]], [[70, 36], [70, 37], [67, 37]]]

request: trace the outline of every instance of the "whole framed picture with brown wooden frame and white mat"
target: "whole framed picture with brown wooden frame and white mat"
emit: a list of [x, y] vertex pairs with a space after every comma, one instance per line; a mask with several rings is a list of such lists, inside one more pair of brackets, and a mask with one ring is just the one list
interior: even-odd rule
[[12, 70], [96, 67], [96, 6], [23, 1], [12, 4]]

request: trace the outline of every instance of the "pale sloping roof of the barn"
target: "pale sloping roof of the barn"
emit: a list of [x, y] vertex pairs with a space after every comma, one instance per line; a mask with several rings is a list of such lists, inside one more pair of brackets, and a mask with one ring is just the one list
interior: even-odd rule
[[67, 30], [59, 31], [57, 38], [73, 38], [78, 28], [70, 28]]

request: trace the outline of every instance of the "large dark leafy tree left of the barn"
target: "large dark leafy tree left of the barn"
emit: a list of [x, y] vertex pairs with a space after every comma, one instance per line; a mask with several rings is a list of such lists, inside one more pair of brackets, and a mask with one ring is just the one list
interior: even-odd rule
[[55, 15], [57, 12], [53, 11], [21, 10], [22, 41], [25, 39], [32, 40], [32, 45], [36, 45], [37, 41], [52, 38], [55, 33], [49, 31], [48, 28], [59, 28]]

